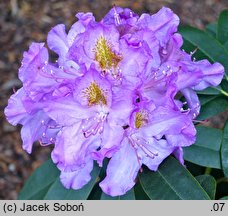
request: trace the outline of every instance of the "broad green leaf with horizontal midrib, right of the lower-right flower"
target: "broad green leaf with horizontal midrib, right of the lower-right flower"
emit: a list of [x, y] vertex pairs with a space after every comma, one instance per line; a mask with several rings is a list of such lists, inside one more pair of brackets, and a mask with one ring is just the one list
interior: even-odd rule
[[196, 143], [184, 148], [184, 159], [201, 166], [220, 169], [222, 131], [203, 126], [197, 126], [196, 129]]

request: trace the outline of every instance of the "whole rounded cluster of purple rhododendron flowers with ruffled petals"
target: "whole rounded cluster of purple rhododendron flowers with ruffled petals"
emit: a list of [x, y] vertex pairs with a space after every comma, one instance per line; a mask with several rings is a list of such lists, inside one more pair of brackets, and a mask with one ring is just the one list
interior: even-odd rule
[[76, 17], [68, 33], [63, 24], [48, 33], [55, 62], [44, 43], [24, 53], [23, 87], [5, 114], [22, 125], [28, 153], [35, 141], [54, 145], [51, 158], [66, 188], [82, 188], [94, 161], [102, 166], [108, 158], [99, 185], [123, 195], [142, 165], [156, 171], [170, 154], [184, 163], [182, 147], [196, 139], [195, 90], [218, 85], [224, 68], [181, 49], [179, 18], [169, 8], [138, 16], [114, 7], [100, 22], [92, 13]]

